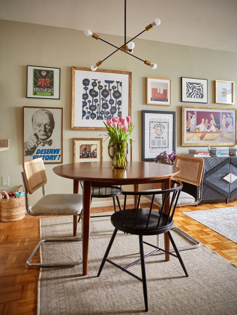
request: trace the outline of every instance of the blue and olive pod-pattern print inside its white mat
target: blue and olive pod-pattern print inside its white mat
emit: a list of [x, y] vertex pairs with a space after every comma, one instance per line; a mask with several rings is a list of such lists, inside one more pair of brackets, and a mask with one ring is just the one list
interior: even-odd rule
[[82, 79], [82, 120], [122, 116], [122, 81]]

